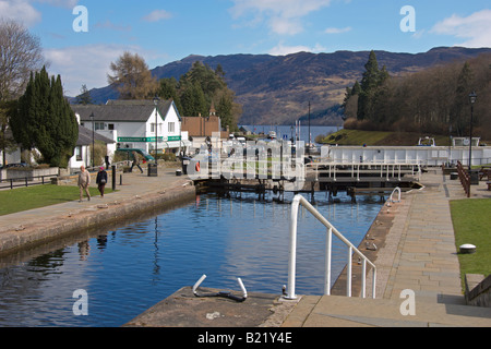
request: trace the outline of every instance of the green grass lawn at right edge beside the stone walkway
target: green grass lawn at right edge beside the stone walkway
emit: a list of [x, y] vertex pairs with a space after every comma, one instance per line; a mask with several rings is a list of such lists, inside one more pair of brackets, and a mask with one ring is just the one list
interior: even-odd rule
[[458, 254], [460, 274], [491, 274], [491, 198], [451, 201], [455, 243], [476, 245], [476, 253]]

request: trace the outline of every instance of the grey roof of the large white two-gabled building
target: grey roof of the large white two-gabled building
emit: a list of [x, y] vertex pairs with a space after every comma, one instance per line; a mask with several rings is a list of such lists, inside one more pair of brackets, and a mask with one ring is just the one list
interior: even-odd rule
[[[158, 103], [158, 111], [161, 117], [167, 116], [173, 100]], [[108, 100], [106, 105], [72, 105], [72, 110], [80, 115], [81, 121], [91, 121], [94, 113], [95, 121], [125, 121], [146, 122], [155, 111], [153, 100]], [[176, 109], [177, 111], [177, 109]], [[178, 112], [178, 117], [179, 112]]]

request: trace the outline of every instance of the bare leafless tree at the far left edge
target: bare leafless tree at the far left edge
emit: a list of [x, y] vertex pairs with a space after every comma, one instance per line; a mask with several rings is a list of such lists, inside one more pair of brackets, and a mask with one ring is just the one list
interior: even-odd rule
[[43, 67], [43, 49], [39, 38], [22, 24], [0, 20], [0, 149], [5, 164], [5, 153], [15, 142], [11, 137], [9, 119], [14, 110], [14, 100], [25, 89], [31, 71]]

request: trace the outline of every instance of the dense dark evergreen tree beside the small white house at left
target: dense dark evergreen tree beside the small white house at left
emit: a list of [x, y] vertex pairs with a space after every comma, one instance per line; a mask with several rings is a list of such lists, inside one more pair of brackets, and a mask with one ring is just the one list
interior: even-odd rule
[[49, 79], [45, 67], [31, 73], [10, 124], [23, 148], [37, 148], [45, 163], [67, 167], [79, 137], [79, 124], [63, 96], [60, 75]]

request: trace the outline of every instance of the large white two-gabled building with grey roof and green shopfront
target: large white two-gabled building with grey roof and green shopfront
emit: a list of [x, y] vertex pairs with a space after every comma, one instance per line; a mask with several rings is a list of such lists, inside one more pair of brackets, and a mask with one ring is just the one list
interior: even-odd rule
[[173, 152], [189, 146], [173, 100], [109, 100], [106, 105], [72, 106], [81, 124], [117, 142], [118, 148]]

